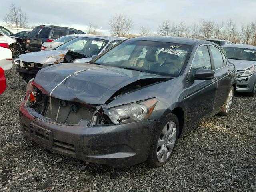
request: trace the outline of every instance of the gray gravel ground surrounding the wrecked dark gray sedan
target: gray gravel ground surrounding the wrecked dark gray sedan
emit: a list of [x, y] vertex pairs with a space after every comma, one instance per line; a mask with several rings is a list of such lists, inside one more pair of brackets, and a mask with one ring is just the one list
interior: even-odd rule
[[0, 96], [0, 191], [255, 192], [256, 96], [236, 95], [228, 117], [214, 116], [180, 138], [170, 162], [110, 168], [46, 150], [21, 133], [26, 83], [6, 72]]

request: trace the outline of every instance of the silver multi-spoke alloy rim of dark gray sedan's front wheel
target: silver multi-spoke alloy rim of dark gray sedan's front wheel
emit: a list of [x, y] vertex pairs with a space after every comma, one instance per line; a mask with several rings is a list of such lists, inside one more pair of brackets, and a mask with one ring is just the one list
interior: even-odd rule
[[156, 156], [159, 162], [164, 162], [168, 159], [172, 150], [177, 136], [176, 124], [171, 121], [168, 122], [158, 138]]

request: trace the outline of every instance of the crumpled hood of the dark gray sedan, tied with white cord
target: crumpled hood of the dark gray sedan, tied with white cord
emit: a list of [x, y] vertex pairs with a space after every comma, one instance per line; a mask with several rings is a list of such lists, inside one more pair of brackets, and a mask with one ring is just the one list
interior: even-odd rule
[[[67, 76], [70, 76], [54, 89]], [[95, 64], [57, 64], [38, 71], [33, 84], [45, 94], [62, 100], [90, 104], [105, 104], [120, 88], [143, 78], [166, 78], [135, 70]]]

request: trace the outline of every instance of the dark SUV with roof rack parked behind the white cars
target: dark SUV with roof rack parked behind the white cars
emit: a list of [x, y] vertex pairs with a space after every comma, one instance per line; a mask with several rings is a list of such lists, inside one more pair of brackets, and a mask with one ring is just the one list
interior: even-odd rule
[[86, 34], [81, 30], [52, 25], [40, 25], [30, 32], [27, 40], [27, 49], [30, 52], [40, 51], [44, 42], [51, 42], [59, 37], [72, 34]]

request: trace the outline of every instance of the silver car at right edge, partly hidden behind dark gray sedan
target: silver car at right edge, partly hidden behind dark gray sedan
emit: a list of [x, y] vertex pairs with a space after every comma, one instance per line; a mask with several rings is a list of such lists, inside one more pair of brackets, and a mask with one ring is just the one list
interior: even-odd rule
[[221, 46], [230, 63], [237, 69], [237, 92], [256, 93], [256, 46], [232, 44]]

